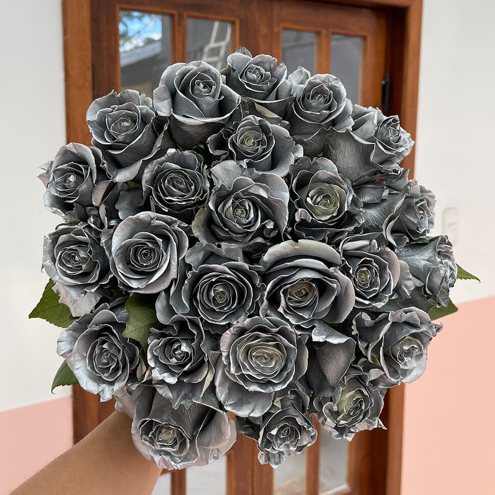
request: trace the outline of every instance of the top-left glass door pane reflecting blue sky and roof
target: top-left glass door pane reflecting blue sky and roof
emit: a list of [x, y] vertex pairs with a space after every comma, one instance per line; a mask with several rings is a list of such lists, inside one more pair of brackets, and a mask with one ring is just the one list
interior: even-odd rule
[[171, 63], [169, 15], [120, 11], [121, 89], [152, 96], [161, 74]]

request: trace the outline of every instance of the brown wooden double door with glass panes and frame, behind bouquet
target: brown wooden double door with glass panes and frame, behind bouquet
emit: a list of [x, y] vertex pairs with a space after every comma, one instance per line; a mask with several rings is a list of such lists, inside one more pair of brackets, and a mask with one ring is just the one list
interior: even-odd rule
[[[335, 74], [349, 97], [366, 106], [382, 105], [382, 82], [390, 75], [385, 110], [399, 113], [414, 136], [421, 0], [63, 1], [68, 140], [89, 141], [81, 113], [92, 98], [125, 87], [149, 93], [162, 69], [179, 61], [208, 59], [221, 68], [239, 45], [285, 59], [289, 72], [300, 62], [313, 73]], [[411, 155], [405, 166], [412, 163]], [[304, 456], [275, 474], [257, 462], [255, 442], [238, 435], [224, 472], [213, 473], [216, 493], [398, 495], [402, 407], [403, 387], [397, 387], [382, 414], [388, 431], [362, 432], [348, 445], [329, 441], [323, 431]], [[112, 410], [113, 404], [75, 387], [75, 440]], [[164, 493], [196, 495], [186, 479], [201, 479], [208, 468], [201, 469], [166, 475]]]

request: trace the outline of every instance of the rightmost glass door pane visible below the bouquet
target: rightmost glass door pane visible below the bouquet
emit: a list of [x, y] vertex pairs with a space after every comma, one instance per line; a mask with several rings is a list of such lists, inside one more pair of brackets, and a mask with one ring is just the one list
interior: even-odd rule
[[347, 440], [334, 440], [320, 431], [320, 495], [336, 493], [347, 487]]

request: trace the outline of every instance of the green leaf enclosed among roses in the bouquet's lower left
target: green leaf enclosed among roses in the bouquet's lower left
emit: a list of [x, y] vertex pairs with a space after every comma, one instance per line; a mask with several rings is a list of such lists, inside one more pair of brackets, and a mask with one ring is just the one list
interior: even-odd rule
[[122, 335], [137, 340], [146, 350], [150, 328], [160, 324], [156, 318], [155, 300], [142, 294], [134, 294], [127, 299], [126, 309], [129, 322]]

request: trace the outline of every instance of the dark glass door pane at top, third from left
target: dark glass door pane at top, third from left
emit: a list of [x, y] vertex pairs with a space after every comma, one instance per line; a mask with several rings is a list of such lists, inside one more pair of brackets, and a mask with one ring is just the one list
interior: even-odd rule
[[302, 65], [313, 74], [315, 46], [316, 33], [295, 29], [282, 30], [282, 60], [287, 65], [287, 73], [290, 74]]

